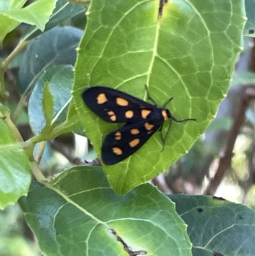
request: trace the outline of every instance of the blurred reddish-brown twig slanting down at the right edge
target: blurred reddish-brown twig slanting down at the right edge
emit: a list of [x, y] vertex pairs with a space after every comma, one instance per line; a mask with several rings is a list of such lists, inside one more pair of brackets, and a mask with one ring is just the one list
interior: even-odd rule
[[244, 86], [242, 89], [240, 103], [238, 106], [237, 114], [235, 115], [235, 119], [233, 121], [230, 133], [228, 134], [228, 139], [226, 142], [226, 148], [224, 151], [224, 156], [219, 160], [219, 167], [217, 172], [212, 179], [211, 183], [208, 185], [207, 190], [205, 190], [206, 195], [214, 195], [217, 187], [222, 181], [224, 173], [230, 167], [233, 147], [235, 145], [235, 140], [237, 139], [238, 132], [240, 127], [244, 123], [245, 120], [245, 111], [249, 106], [251, 100], [255, 99], [255, 87], [254, 86]]

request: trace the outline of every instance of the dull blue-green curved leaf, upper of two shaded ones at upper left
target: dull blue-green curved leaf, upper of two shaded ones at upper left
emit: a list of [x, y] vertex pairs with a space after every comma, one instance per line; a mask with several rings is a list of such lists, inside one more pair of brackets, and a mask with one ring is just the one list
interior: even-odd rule
[[29, 93], [43, 71], [59, 64], [75, 64], [76, 47], [82, 31], [73, 27], [54, 27], [41, 34], [25, 52], [18, 72], [18, 89]]

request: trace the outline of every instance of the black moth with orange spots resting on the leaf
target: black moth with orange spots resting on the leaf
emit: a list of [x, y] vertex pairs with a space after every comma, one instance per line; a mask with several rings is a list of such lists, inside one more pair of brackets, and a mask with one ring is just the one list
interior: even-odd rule
[[135, 153], [150, 139], [153, 133], [161, 128], [164, 120], [171, 119], [175, 122], [196, 120], [175, 119], [170, 110], [165, 109], [172, 98], [162, 108], [159, 108], [148, 91], [147, 94], [149, 100], [155, 105], [103, 86], [90, 87], [82, 94], [87, 107], [101, 119], [108, 123], [124, 123], [124, 126], [108, 133], [105, 137], [101, 156], [106, 165], [119, 163]]

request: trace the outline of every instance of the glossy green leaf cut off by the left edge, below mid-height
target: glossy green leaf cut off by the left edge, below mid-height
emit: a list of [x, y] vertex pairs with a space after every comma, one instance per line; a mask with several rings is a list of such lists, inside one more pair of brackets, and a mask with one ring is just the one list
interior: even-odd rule
[[31, 183], [29, 160], [20, 144], [0, 119], [0, 209], [27, 194]]

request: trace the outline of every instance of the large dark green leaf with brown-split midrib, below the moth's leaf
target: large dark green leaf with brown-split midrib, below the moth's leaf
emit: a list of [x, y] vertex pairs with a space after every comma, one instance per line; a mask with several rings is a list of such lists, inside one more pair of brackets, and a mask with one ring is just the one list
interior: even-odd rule
[[47, 255], [126, 256], [114, 229], [134, 251], [191, 256], [187, 226], [167, 197], [150, 184], [120, 196], [101, 167], [75, 167], [48, 187], [34, 183], [20, 204]]

